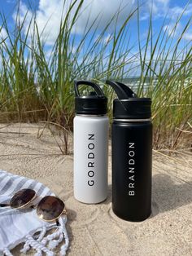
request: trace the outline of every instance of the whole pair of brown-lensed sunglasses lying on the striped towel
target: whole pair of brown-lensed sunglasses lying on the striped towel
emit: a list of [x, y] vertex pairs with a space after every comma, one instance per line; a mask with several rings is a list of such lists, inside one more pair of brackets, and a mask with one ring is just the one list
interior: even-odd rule
[[[0, 204], [0, 207], [11, 206], [14, 209], [24, 209], [37, 197], [33, 189], [24, 188], [11, 198], [9, 204]], [[56, 221], [62, 214], [67, 214], [65, 204], [56, 196], [45, 196], [37, 205], [30, 205], [30, 208], [37, 208], [37, 216], [46, 222]]]

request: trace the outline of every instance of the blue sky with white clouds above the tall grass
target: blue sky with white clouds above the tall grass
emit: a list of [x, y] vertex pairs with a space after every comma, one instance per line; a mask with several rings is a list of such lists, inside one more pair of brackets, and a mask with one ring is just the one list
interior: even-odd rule
[[[169, 43], [171, 42], [174, 46], [177, 42], [177, 39], [180, 37], [183, 29], [185, 28], [185, 24], [192, 17], [192, 0], [190, 2], [185, 0], [84, 0], [82, 6], [82, 13], [79, 19], [76, 22], [76, 29], [72, 31], [74, 35], [76, 35], [76, 45], [80, 42], [85, 26], [88, 24], [88, 27], [93, 24], [94, 20], [98, 17], [98, 29], [95, 34], [95, 39], [99, 36], [100, 32], [106, 26], [111, 17], [115, 15], [118, 11], [120, 11], [119, 19], [117, 21], [117, 27], [124, 23], [124, 20], [128, 17], [129, 13], [136, 9], [137, 1], [139, 1], [140, 7], [140, 42], [141, 46], [145, 46], [147, 31], [149, 28], [149, 20], [150, 13], [152, 11], [152, 24], [153, 24], [153, 37], [152, 40], [155, 42], [160, 29], [169, 37], [171, 40], [165, 43], [162, 47], [165, 48], [165, 51], [168, 51]], [[46, 51], [46, 59], [49, 60], [51, 55], [51, 49], [54, 46], [55, 40], [59, 33], [60, 20], [62, 17], [63, 10], [63, 2], [64, 0], [20, 0], [20, 17], [26, 14], [28, 11], [28, 16], [26, 18], [23, 32], [26, 33], [28, 30], [28, 24], [31, 20], [33, 12], [36, 12], [36, 23], [38, 26], [38, 31], [41, 34], [41, 38], [46, 41], [45, 51]], [[68, 5], [72, 2], [72, 0], [66, 0], [66, 6], [64, 8], [64, 15], [66, 10], [68, 10]], [[77, 2], [80, 2], [77, 1]], [[0, 13], [4, 13], [7, 19], [7, 24], [9, 27], [9, 32], [13, 32], [15, 28], [15, 15], [18, 8], [17, 0], [3, 0], [0, 5]], [[75, 8], [76, 9], [76, 8]], [[175, 29], [174, 33], [172, 33], [172, 29], [176, 24], [178, 17], [184, 11], [181, 20], [179, 20], [177, 24], [177, 29]], [[33, 11], [32, 11], [33, 10]], [[75, 10], [74, 10], [75, 11]], [[73, 11], [73, 13], [74, 13]], [[139, 75], [140, 73], [140, 55], [138, 54], [138, 37], [137, 37], [137, 15], [133, 15], [132, 19], [129, 21], [129, 26], [127, 28], [128, 34], [127, 38], [124, 38], [124, 47], [128, 52], [126, 55], [127, 59], [120, 59], [122, 63], [129, 63], [127, 68], [136, 67], [136, 73], [133, 73], [133, 69], [130, 68], [131, 73], [130, 76]], [[0, 41], [3, 38], [7, 38], [7, 32], [3, 28], [2, 20], [0, 18]], [[109, 41], [109, 46], [107, 47], [107, 51], [105, 56], [109, 54], [111, 51], [112, 40], [110, 41], [111, 35], [114, 35], [115, 24], [111, 24], [111, 26], [107, 29], [106, 33], [103, 35], [103, 41]], [[33, 33], [33, 31], [31, 31]], [[85, 42], [85, 47], [82, 47], [80, 55], [78, 55], [78, 61], [83, 61], [83, 55], [85, 55], [85, 51], [88, 51], [89, 38], [91, 38], [91, 33]], [[129, 40], [130, 39], [130, 40]], [[159, 40], [160, 41], [160, 40]], [[92, 43], [94, 40], [92, 41]], [[28, 39], [28, 43], [30, 43], [30, 38]], [[178, 46], [177, 60], [181, 60], [185, 46], [191, 48], [192, 46], [192, 27], [191, 20], [188, 26], [188, 29], [185, 31], [185, 34], [182, 36], [182, 40]], [[72, 46], [72, 51], [76, 51], [77, 46]], [[70, 49], [71, 52], [71, 49]], [[168, 53], [168, 57], [166, 59], [172, 59], [172, 54], [174, 51], [170, 51]], [[99, 47], [96, 52], [96, 55], [99, 55]], [[147, 51], [141, 51], [141, 55], [146, 54], [146, 60], [151, 60], [151, 42], [147, 47]], [[155, 51], [155, 55], [153, 59], [158, 58], [158, 50]], [[164, 57], [164, 55], [163, 55]], [[143, 59], [143, 57], [142, 57]], [[160, 55], [160, 59], [162, 59], [162, 55]], [[175, 58], [174, 58], [175, 59]], [[105, 58], [107, 63], [107, 58]]]

